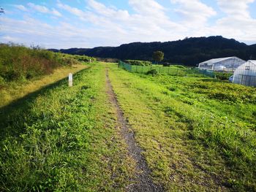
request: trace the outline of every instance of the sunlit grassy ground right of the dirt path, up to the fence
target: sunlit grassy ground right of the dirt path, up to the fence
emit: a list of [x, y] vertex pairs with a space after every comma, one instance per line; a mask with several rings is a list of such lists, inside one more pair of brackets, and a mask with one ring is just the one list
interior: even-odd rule
[[110, 67], [124, 115], [167, 191], [256, 191], [255, 88]]

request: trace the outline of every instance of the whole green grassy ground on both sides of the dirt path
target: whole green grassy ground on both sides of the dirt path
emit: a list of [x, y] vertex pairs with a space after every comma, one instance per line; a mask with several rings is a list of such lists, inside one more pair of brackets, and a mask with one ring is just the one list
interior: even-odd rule
[[157, 191], [256, 191], [255, 88], [106, 63], [73, 84], [1, 107], [0, 191], [127, 191], [139, 163]]

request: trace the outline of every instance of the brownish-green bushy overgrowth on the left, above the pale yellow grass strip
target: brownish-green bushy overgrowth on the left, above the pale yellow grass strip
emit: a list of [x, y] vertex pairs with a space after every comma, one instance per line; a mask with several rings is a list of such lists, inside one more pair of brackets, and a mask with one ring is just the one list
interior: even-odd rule
[[[25, 82], [45, 74], [53, 73], [60, 66], [80, 64], [78, 61], [88, 61], [87, 56], [67, 55], [42, 50], [39, 47], [24, 47], [22, 45], [0, 45], [0, 88], [8, 86], [9, 82]], [[91, 58], [91, 61], [94, 61]]]

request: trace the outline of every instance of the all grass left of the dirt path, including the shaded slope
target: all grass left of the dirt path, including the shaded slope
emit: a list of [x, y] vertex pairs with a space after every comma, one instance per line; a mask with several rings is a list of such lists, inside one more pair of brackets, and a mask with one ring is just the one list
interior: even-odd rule
[[134, 172], [93, 65], [0, 111], [0, 191], [123, 191]]

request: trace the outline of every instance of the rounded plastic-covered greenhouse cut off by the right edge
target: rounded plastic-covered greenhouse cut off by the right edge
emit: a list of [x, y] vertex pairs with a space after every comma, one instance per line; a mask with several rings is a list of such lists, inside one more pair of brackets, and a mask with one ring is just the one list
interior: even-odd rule
[[256, 60], [249, 60], [239, 66], [234, 72], [233, 82], [256, 87]]

